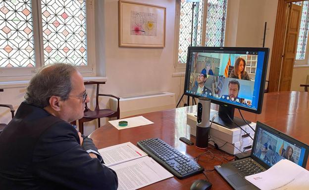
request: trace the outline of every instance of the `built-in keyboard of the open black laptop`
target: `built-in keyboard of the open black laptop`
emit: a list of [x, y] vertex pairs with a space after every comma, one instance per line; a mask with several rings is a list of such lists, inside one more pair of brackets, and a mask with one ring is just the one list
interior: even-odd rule
[[240, 162], [233, 163], [233, 165], [242, 172], [245, 176], [257, 174], [263, 171], [252, 159], [246, 159]]

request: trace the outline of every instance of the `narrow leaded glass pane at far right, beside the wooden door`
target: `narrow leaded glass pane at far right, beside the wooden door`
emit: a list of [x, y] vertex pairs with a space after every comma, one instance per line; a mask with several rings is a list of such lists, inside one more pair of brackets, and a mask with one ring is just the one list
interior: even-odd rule
[[[309, 28], [309, 14], [308, 8], [309, 3], [308, 1], [303, 1], [303, 9], [302, 9], [302, 19], [300, 25], [300, 31], [298, 36], [298, 43], [297, 43], [297, 53], [296, 59], [297, 60], [304, 60], [306, 56], [306, 47], [307, 47], [307, 40], [308, 40], [308, 28]], [[301, 3], [301, 2], [299, 2]], [[301, 4], [298, 4], [301, 5]]]

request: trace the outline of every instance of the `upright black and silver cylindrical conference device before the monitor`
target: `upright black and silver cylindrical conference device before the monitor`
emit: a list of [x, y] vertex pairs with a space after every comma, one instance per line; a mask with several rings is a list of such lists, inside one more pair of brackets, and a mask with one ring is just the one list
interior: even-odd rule
[[210, 99], [206, 97], [200, 97], [198, 100], [198, 116], [195, 143], [195, 146], [198, 149], [206, 149], [208, 147], [209, 117]]

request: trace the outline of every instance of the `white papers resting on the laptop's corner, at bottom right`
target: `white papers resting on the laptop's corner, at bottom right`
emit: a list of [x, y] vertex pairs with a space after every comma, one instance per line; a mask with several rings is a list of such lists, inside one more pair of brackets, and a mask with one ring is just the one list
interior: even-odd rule
[[245, 178], [261, 190], [309, 190], [309, 171], [287, 159]]

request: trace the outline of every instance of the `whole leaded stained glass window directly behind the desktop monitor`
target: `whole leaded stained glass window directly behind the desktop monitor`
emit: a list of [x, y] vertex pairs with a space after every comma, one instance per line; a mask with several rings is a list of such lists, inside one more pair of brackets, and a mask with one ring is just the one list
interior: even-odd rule
[[[203, 7], [207, 2], [206, 31], [203, 29]], [[223, 46], [227, 0], [200, 0], [180, 2], [178, 63], [187, 62], [188, 46]], [[192, 11], [194, 9], [194, 11]], [[192, 17], [192, 12], [193, 17]], [[193, 29], [192, 29], [193, 21]], [[205, 23], [205, 22], [204, 22]], [[192, 31], [192, 35], [191, 35]], [[205, 41], [202, 41], [203, 35]]]

